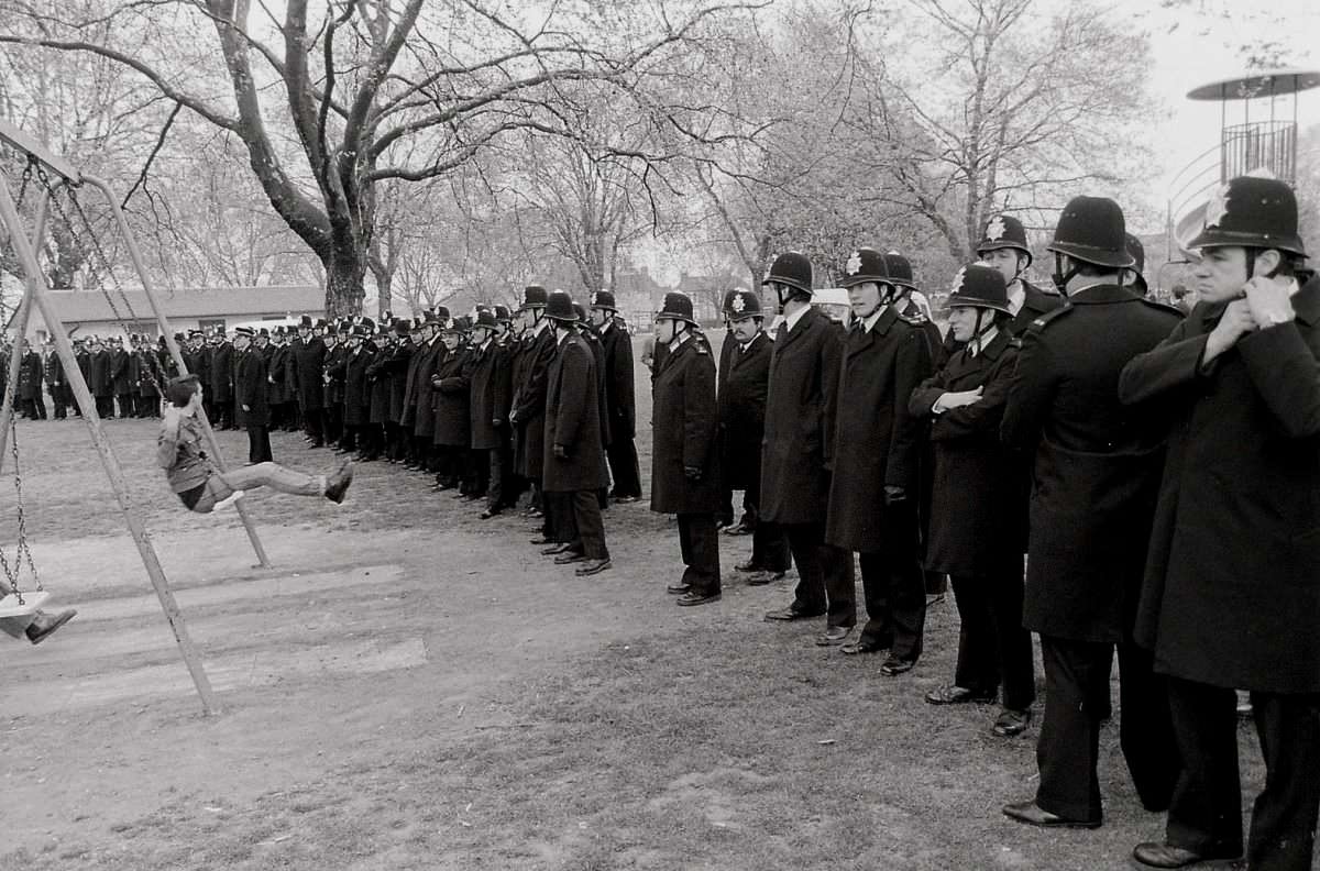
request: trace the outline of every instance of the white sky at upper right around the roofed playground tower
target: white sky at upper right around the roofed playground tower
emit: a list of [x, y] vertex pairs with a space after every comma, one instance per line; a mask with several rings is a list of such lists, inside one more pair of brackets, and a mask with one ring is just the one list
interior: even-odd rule
[[[1151, 137], [1162, 166], [1152, 178], [1151, 205], [1163, 205], [1170, 182], [1188, 162], [1220, 140], [1220, 103], [1187, 99], [1192, 88], [1245, 74], [1237, 46], [1257, 38], [1278, 40], [1290, 51], [1279, 65], [1320, 70], [1320, 0], [1262, 0], [1249, 8], [1241, 0], [1189, 0], [1185, 8], [1164, 9], [1159, 0], [1117, 0], [1125, 16], [1150, 36], [1151, 94], [1160, 102]], [[1276, 117], [1291, 117], [1292, 98], [1276, 102]], [[1267, 100], [1251, 104], [1253, 119], [1265, 117]], [[1229, 103], [1229, 123], [1242, 120], [1242, 103]], [[1298, 127], [1320, 124], [1320, 88], [1298, 99]], [[1160, 232], [1160, 226], [1138, 226], [1138, 232]]]

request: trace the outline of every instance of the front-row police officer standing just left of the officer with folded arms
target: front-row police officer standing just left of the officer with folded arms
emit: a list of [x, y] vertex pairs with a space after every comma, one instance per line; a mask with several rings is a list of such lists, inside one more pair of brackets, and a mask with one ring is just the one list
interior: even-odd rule
[[858, 248], [843, 267], [853, 323], [843, 340], [834, 410], [834, 474], [825, 541], [861, 554], [866, 627], [851, 652], [888, 651], [880, 673], [921, 656], [925, 579], [917, 552], [924, 418], [908, 397], [931, 373], [920, 326], [900, 317], [884, 255]]

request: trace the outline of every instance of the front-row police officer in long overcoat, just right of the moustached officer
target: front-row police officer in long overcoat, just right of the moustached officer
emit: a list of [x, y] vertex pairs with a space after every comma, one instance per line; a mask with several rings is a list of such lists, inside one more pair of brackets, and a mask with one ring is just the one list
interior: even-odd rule
[[805, 255], [779, 255], [764, 284], [779, 298], [784, 322], [770, 358], [760, 508], [762, 516], [788, 536], [799, 573], [792, 603], [766, 619], [803, 620], [825, 614], [825, 633], [817, 643], [841, 644], [857, 624], [857, 603], [853, 556], [825, 544], [840, 327], [812, 307], [812, 263]]

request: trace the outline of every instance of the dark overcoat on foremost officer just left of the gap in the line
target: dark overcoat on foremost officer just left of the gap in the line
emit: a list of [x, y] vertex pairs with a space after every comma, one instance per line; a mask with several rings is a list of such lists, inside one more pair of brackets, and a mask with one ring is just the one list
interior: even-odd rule
[[[553, 342], [553, 333], [546, 330], [545, 334]], [[610, 472], [601, 447], [601, 396], [595, 355], [586, 339], [576, 333], [558, 344], [550, 360], [545, 375], [544, 416], [541, 490], [573, 492], [609, 486]], [[554, 455], [556, 445], [564, 446], [566, 458]]]

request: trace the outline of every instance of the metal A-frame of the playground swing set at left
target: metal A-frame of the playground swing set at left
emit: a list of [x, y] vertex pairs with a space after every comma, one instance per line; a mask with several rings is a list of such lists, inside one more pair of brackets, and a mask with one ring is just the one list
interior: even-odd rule
[[[74, 400], [82, 410], [82, 417], [87, 422], [87, 429], [91, 432], [92, 443], [96, 446], [100, 462], [106, 467], [106, 475], [110, 478], [111, 488], [115, 491], [115, 498], [119, 501], [128, 531], [133, 537], [133, 544], [137, 545], [137, 552], [143, 558], [143, 565], [147, 567], [147, 574], [150, 577], [152, 586], [156, 590], [156, 597], [161, 603], [161, 610], [165, 612], [165, 619], [169, 620], [170, 629], [174, 632], [174, 640], [178, 643], [180, 653], [182, 655], [183, 662], [193, 678], [193, 684], [197, 688], [197, 694], [201, 698], [202, 713], [203, 715], [210, 715], [216, 711], [211, 682], [206, 676], [205, 668], [202, 666], [197, 648], [193, 645], [191, 636], [187, 632], [187, 626], [183, 622], [183, 615], [178, 610], [178, 603], [176, 602], [174, 594], [169, 587], [169, 582], [165, 578], [165, 570], [161, 567], [160, 558], [156, 554], [156, 548], [152, 545], [150, 536], [147, 533], [147, 528], [143, 524], [141, 515], [136, 511], [132, 503], [128, 486], [124, 480], [124, 470], [115, 455], [114, 446], [110, 443], [110, 439], [106, 438], [100, 417], [96, 414], [96, 403], [91, 396], [91, 391], [87, 388], [86, 380], [82, 377], [82, 371], [79, 370], [78, 360], [74, 356], [69, 334], [65, 330], [65, 325], [59, 319], [54, 305], [48, 297], [50, 288], [46, 285], [46, 278], [41, 272], [41, 265], [37, 260], [37, 247], [44, 239], [46, 219], [51, 206], [51, 194], [55, 187], [66, 186], [70, 193], [83, 186], [92, 187], [106, 198], [106, 202], [115, 216], [115, 223], [123, 235], [129, 259], [133, 261], [133, 268], [141, 280], [143, 292], [150, 302], [152, 313], [156, 315], [156, 322], [161, 330], [161, 335], [165, 338], [165, 344], [169, 348], [170, 356], [181, 373], [187, 372], [187, 366], [183, 363], [183, 356], [180, 352], [178, 343], [174, 342], [174, 334], [170, 330], [169, 322], [165, 319], [164, 311], [161, 310], [154, 284], [147, 272], [141, 251], [137, 248], [137, 240], [133, 238], [128, 227], [128, 220], [125, 219], [119, 203], [115, 201], [110, 185], [94, 176], [82, 174], [77, 166], [66, 161], [63, 157], [53, 153], [45, 145], [24, 133], [21, 129], [13, 127], [4, 119], [0, 119], [0, 141], [17, 149], [30, 161], [36, 161], [42, 168], [59, 177], [54, 185], [41, 185], [41, 201], [37, 206], [36, 223], [32, 236], [28, 235], [28, 231], [24, 227], [17, 203], [9, 193], [8, 182], [0, 178], [0, 224], [3, 224], [9, 232], [15, 252], [18, 255], [18, 263], [22, 268], [25, 285], [22, 302], [20, 304], [12, 325], [16, 338], [9, 358], [9, 380], [4, 392], [4, 403], [0, 405], [0, 470], [4, 467], [5, 447], [11, 426], [13, 425], [13, 397], [17, 393], [17, 379], [22, 360], [28, 318], [32, 314], [33, 306], [36, 306], [41, 310], [41, 315], [50, 330], [51, 340], [55, 344], [55, 354], [63, 364], [65, 377], [73, 388]], [[55, 206], [58, 207], [58, 203], [55, 203]], [[87, 227], [87, 231], [90, 232], [91, 228]], [[110, 264], [107, 263], [104, 267], [108, 269]], [[108, 292], [107, 298], [110, 298]], [[111, 309], [115, 309], [114, 301], [111, 301]], [[133, 317], [131, 306], [129, 314]], [[215, 441], [215, 433], [211, 430], [211, 424], [206, 418], [205, 412], [198, 412], [198, 417], [202, 422], [202, 429], [206, 433], [206, 442], [211, 458], [216, 467], [223, 472], [224, 463], [220, 455], [219, 445]], [[265, 556], [265, 549], [261, 546], [256, 528], [253, 527], [251, 517], [248, 517], [242, 501], [236, 504], [236, 508], [239, 517], [243, 520], [243, 527], [247, 529], [248, 538], [252, 542], [252, 549], [256, 552], [257, 561], [261, 567], [269, 567], [271, 562]], [[0, 579], [0, 594], [8, 597], [9, 594], [17, 595], [18, 591], [17, 589], [11, 590], [9, 585]], [[36, 594], [28, 594], [29, 599], [34, 598], [34, 595]], [[34, 611], [36, 608], [33, 607], [32, 610]]]

